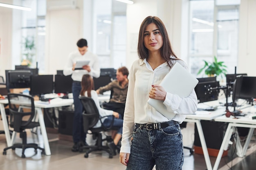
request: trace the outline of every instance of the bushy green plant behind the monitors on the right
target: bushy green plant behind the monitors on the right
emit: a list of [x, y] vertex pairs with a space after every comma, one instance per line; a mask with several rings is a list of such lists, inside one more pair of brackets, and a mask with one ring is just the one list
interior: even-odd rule
[[226, 68], [227, 66], [224, 65], [224, 62], [217, 61], [217, 57], [214, 56], [214, 60], [212, 63], [204, 60], [204, 67], [198, 71], [198, 74], [200, 74], [204, 70], [204, 73], [208, 76], [220, 75], [222, 77], [223, 74], [225, 75], [227, 73]]

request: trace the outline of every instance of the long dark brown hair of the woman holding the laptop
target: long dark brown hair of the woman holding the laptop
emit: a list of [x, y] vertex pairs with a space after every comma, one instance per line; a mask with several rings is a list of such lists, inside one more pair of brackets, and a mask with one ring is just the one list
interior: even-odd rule
[[161, 56], [165, 59], [165, 61], [168, 63], [169, 67], [171, 68], [173, 66], [173, 63], [171, 63], [171, 60], [173, 59], [170, 59], [170, 57], [173, 56], [175, 57], [174, 59], [178, 59], [178, 58], [171, 48], [171, 42], [169, 40], [168, 33], [166, 31], [164, 23], [158, 17], [148, 16], [143, 20], [143, 22], [140, 25], [139, 41], [138, 41], [139, 59], [146, 59], [148, 57], [148, 49], [144, 45], [143, 38], [144, 38], [144, 32], [146, 30], [146, 27], [148, 26], [148, 24], [151, 24], [151, 23], [156, 24], [156, 26], [159, 28], [159, 31], [163, 39], [163, 46], [160, 49]]

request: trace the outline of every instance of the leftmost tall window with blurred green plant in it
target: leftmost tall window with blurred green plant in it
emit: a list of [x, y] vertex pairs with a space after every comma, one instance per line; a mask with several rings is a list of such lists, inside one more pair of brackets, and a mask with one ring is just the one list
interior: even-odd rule
[[22, 4], [32, 11], [22, 11], [21, 61], [44, 72], [46, 0], [23, 0]]

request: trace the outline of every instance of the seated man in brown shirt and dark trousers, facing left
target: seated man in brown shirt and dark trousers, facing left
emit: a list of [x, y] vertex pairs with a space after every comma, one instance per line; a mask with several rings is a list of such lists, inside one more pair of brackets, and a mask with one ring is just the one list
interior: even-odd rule
[[117, 69], [116, 80], [96, 90], [97, 94], [111, 90], [110, 102], [103, 105], [104, 109], [115, 111], [124, 118], [124, 107], [128, 91], [129, 71], [126, 67]]

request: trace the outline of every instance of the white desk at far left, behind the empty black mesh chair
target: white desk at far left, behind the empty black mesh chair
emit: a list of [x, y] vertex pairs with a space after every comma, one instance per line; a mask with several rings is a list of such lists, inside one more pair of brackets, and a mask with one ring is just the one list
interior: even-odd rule
[[[45, 154], [46, 155], [51, 155], [51, 150], [50, 150], [50, 147], [49, 147], [49, 141], [48, 141], [48, 137], [47, 137], [47, 133], [46, 133], [46, 129], [45, 129], [45, 122], [44, 122], [44, 118], [43, 118], [42, 109], [43, 108], [68, 106], [68, 105], [72, 105], [73, 102], [74, 102], [73, 99], [63, 99], [61, 101], [53, 102], [53, 103], [47, 103], [47, 102], [41, 102], [41, 101], [35, 101], [34, 102], [36, 113], [38, 114], [38, 121], [40, 123], [41, 133], [42, 133], [43, 140], [44, 140], [44, 147], [45, 147]], [[13, 133], [12, 137], [10, 136], [9, 125], [7, 123], [6, 113], [5, 113], [5, 110], [4, 110], [4, 104], [8, 104], [7, 99], [0, 100], [0, 111], [1, 111], [2, 122], [3, 122], [3, 126], [4, 126], [4, 133], [5, 133], [5, 137], [6, 137], [6, 142], [7, 142], [7, 146], [9, 147], [9, 146], [13, 145], [13, 140], [15, 138], [15, 133]]]

